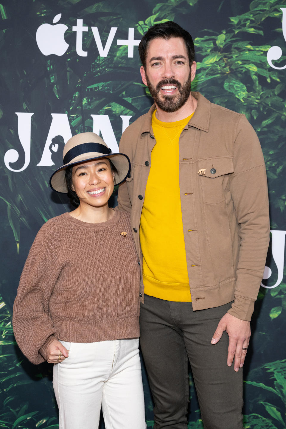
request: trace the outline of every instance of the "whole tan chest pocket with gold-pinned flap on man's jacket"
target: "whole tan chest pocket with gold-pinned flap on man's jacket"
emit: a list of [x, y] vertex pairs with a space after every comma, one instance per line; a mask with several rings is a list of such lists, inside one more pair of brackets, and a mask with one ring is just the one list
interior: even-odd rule
[[203, 201], [209, 204], [224, 201], [229, 174], [234, 171], [233, 158], [201, 158], [197, 160], [197, 166]]

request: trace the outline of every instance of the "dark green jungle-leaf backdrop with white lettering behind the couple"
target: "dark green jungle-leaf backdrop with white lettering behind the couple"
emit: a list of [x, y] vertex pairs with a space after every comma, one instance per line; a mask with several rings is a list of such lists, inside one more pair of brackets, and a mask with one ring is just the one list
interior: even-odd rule
[[[138, 43], [173, 20], [195, 42], [193, 89], [245, 113], [262, 144], [271, 241], [244, 370], [244, 427], [285, 428], [286, 0], [0, 0], [0, 14], [0, 426], [58, 427], [51, 365], [30, 364], [13, 337], [19, 277], [42, 224], [70, 210], [48, 186], [65, 142], [94, 131], [117, 150], [152, 103]], [[143, 381], [149, 428], [145, 371]], [[202, 428], [191, 375], [189, 422]]]

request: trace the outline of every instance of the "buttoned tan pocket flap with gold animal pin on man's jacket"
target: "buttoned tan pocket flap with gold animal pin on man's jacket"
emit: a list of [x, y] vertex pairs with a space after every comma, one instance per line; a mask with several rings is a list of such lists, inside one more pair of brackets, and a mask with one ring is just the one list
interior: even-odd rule
[[197, 161], [198, 174], [200, 176], [215, 178], [233, 173], [232, 160], [232, 157], [201, 158]]

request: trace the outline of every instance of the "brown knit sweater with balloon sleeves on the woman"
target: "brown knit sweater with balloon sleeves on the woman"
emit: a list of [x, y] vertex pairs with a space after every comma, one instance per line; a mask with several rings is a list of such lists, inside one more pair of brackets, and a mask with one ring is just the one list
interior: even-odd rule
[[100, 224], [68, 213], [51, 219], [39, 230], [21, 275], [13, 309], [19, 347], [38, 364], [55, 339], [138, 337], [139, 281], [126, 212], [115, 211]]

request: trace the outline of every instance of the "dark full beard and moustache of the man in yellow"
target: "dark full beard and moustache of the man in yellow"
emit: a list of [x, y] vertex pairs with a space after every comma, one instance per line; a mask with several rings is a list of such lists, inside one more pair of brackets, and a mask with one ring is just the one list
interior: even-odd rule
[[[175, 79], [164, 79], [158, 83], [156, 88], [151, 84], [147, 74], [145, 74], [145, 77], [151, 96], [153, 97], [159, 109], [163, 110], [163, 112], [177, 112], [177, 110], [184, 106], [190, 97], [192, 82], [191, 73], [183, 85], [181, 85], [181, 83]], [[164, 85], [175, 85], [178, 88], [178, 93], [176, 95], [159, 95], [160, 88], [162, 88]]]

